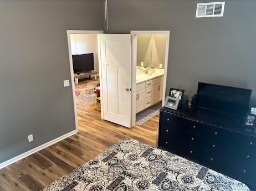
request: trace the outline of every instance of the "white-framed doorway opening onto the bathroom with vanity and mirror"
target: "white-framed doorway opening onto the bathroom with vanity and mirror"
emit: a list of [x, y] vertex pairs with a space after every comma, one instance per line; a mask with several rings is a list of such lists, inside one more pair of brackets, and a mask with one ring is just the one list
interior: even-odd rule
[[132, 126], [142, 125], [164, 105], [170, 31], [131, 31]]

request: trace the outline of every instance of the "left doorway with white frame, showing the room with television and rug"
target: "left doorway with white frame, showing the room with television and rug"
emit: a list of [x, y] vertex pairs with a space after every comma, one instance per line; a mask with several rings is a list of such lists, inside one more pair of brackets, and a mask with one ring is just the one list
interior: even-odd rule
[[67, 30], [76, 129], [88, 115], [101, 115], [98, 34], [101, 30]]

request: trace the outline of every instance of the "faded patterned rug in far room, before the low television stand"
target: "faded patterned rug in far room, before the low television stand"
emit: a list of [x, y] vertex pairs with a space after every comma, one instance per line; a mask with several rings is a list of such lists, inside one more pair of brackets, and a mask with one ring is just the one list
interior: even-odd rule
[[75, 85], [76, 104], [81, 106], [93, 104], [95, 101], [94, 87], [96, 87], [97, 84], [98, 82]]

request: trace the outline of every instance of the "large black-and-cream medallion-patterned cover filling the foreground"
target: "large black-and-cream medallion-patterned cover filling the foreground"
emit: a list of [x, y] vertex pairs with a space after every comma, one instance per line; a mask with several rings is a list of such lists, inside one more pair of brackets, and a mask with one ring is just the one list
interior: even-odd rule
[[136, 140], [122, 140], [43, 191], [248, 191], [237, 180]]

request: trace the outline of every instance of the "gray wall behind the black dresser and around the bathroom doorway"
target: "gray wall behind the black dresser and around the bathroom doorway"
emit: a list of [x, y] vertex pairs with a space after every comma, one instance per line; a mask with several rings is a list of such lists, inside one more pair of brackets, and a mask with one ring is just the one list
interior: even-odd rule
[[253, 89], [256, 102], [256, 1], [226, 0], [224, 17], [195, 18], [196, 0], [109, 0], [107, 33], [170, 30], [167, 92], [192, 96], [198, 81]]

